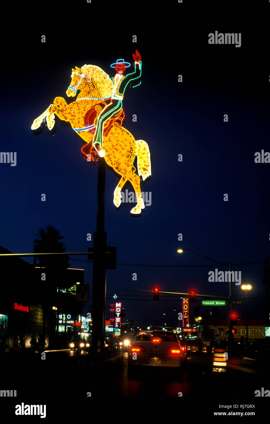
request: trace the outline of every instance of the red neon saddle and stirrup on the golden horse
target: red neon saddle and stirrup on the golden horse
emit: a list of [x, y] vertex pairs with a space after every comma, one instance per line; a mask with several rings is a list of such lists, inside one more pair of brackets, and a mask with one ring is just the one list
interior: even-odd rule
[[[98, 121], [98, 115], [100, 112], [106, 107], [109, 103], [111, 103], [111, 99], [103, 100], [102, 102], [96, 104], [95, 106], [91, 107], [89, 109], [84, 117], [84, 123], [85, 126], [90, 126], [87, 131], [90, 132], [90, 134], [95, 134], [96, 124]], [[109, 132], [112, 128], [120, 128], [123, 124], [123, 120], [125, 118], [125, 114], [123, 109], [120, 109], [119, 112], [117, 112], [112, 118], [104, 122], [103, 125], [103, 137], [107, 137]], [[84, 158], [87, 159], [87, 155], [91, 155], [91, 160], [94, 162], [94, 155], [97, 156], [97, 151], [92, 146], [92, 143], [87, 143], [81, 148], [82, 154], [84, 155]], [[96, 159], [98, 160], [98, 159]], [[95, 165], [95, 162], [94, 162]]]

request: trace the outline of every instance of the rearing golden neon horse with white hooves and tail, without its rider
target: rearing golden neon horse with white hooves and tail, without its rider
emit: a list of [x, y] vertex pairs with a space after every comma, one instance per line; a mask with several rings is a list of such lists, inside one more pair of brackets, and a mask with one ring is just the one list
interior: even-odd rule
[[[36, 118], [31, 126], [35, 134], [39, 134], [46, 125], [53, 134], [55, 131], [55, 115], [60, 120], [71, 123], [73, 130], [82, 138], [84, 146], [81, 151], [88, 162], [104, 157], [107, 165], [121, 176], [114, 191], [113, 203], [118, 208], [121, 205], [121, 189], [129, 181], [136, 193], [137, 204], [131, 209], [131, 214], [139, 215], [145, 204], [140, 188], [140, 176], [145, 181], [151, 176], [150, 151], [144, 140], [136, 140], [133, 135], [123, 128], [123, 109], [112, 119], [104, 123], [103, 146], [95, 149], [92, 140], [95, 134], [95, 124], [98, 114], [111, 102], [113, 83], [101, 68], [94, 65], [84, 65], [72, 69], [71, 84], [66, 90], [68, 97], [75, 97], [69, 105], [63, 97], [56, 97], [54, 102]], [[137, 156], [138, 174], [133, 165]], [[95, 162], [94, 162], [95, 164]]]

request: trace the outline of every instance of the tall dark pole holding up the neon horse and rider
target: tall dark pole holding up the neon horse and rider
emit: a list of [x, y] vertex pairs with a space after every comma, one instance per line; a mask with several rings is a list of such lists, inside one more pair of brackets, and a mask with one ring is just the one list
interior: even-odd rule
[[105, 215], [105, 170], [104, 158], [98, 158], [98, 206], [97, 229], [94, 232], [93, 257], [93, 318], [91, 353], [93, 359], [100, 360], [104, 355], [105, 305], [106, 305], [106, 236]]

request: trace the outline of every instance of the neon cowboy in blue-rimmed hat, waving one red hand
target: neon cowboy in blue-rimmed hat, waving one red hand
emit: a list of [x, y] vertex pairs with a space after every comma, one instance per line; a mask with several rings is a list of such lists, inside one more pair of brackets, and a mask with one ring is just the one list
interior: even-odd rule
[[[120, 109], [123, 108], [124, 96], [127, 94], [128, 90], [131, 87], [136, 87], [141, 84], [138, 83], [139, 78], [142, 75], [142, 62], [141, 55], [138, 50], [135, 51], [135, 54], [132, 54], [135, 61], [134, 72], [128, 75], [124, 75], [125, 69], [130, 67], [130, 63], [125, 62], [124, 59], [118, 59], [116, 63], [111, 64], [111, 68], [115, 68], [116, 75], [114, 78], [111, 78], [114, 84], [114, 89], [112, 92], [112, 101], [107, 105], [99, 114], [98, 122], [95, 130], [95, 135], [92, 141], [92, 145], [95, 147], [95, 150], [98, 151], [96, 145], [100, 144], [102, 147], [103, 144], [103, 125], [104, 122], [113, 117]], [[106, 152], [104, 150], [98, 151], [99, 156], [105, 156]]]

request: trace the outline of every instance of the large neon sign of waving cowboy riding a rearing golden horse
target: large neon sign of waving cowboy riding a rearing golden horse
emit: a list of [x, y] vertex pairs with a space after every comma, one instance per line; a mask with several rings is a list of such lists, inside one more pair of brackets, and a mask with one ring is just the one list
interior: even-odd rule
[[[134, 88], [140, 84], [142, 73], [141, 56], [137, 50], [133, 58], [135, 70], [126, 75], [123, 75], [123, 66], [126, 67], [125, 64], [129, 65], [129, 62], [117, 60], [113, 81], [95, 65], [85, 64], [72, 69], [66, 95], [73, 98], [76, 96], [76, 100], [67, 104], [63, 97], [55, 97], [53, 103], [33, 121], [31, 129], [35, 134], [39, 134], [43, 131], [46, 121], [53, 134], [56, 127], [55, 115], [60, 120], [69, 122], [85, 144], [81, 149], [84, 159], [95, 165], [99, 157], [104, 157], [106, 164], [120, 176], [113, 196], [115, 206], [121, 206], [121, 189], [129, 181], [137, 202], [130, 212], [132, 215], [139, 215], [145, 209], [140, 176], [143, 181], [151, 176], [151, 162], [147, 142], [142, 139], [135, 140], [122, 126], [125, 117], [122, 100], [130, 87]], [[136, 157], [138, 174], [135, 173], [133, 165]]]

